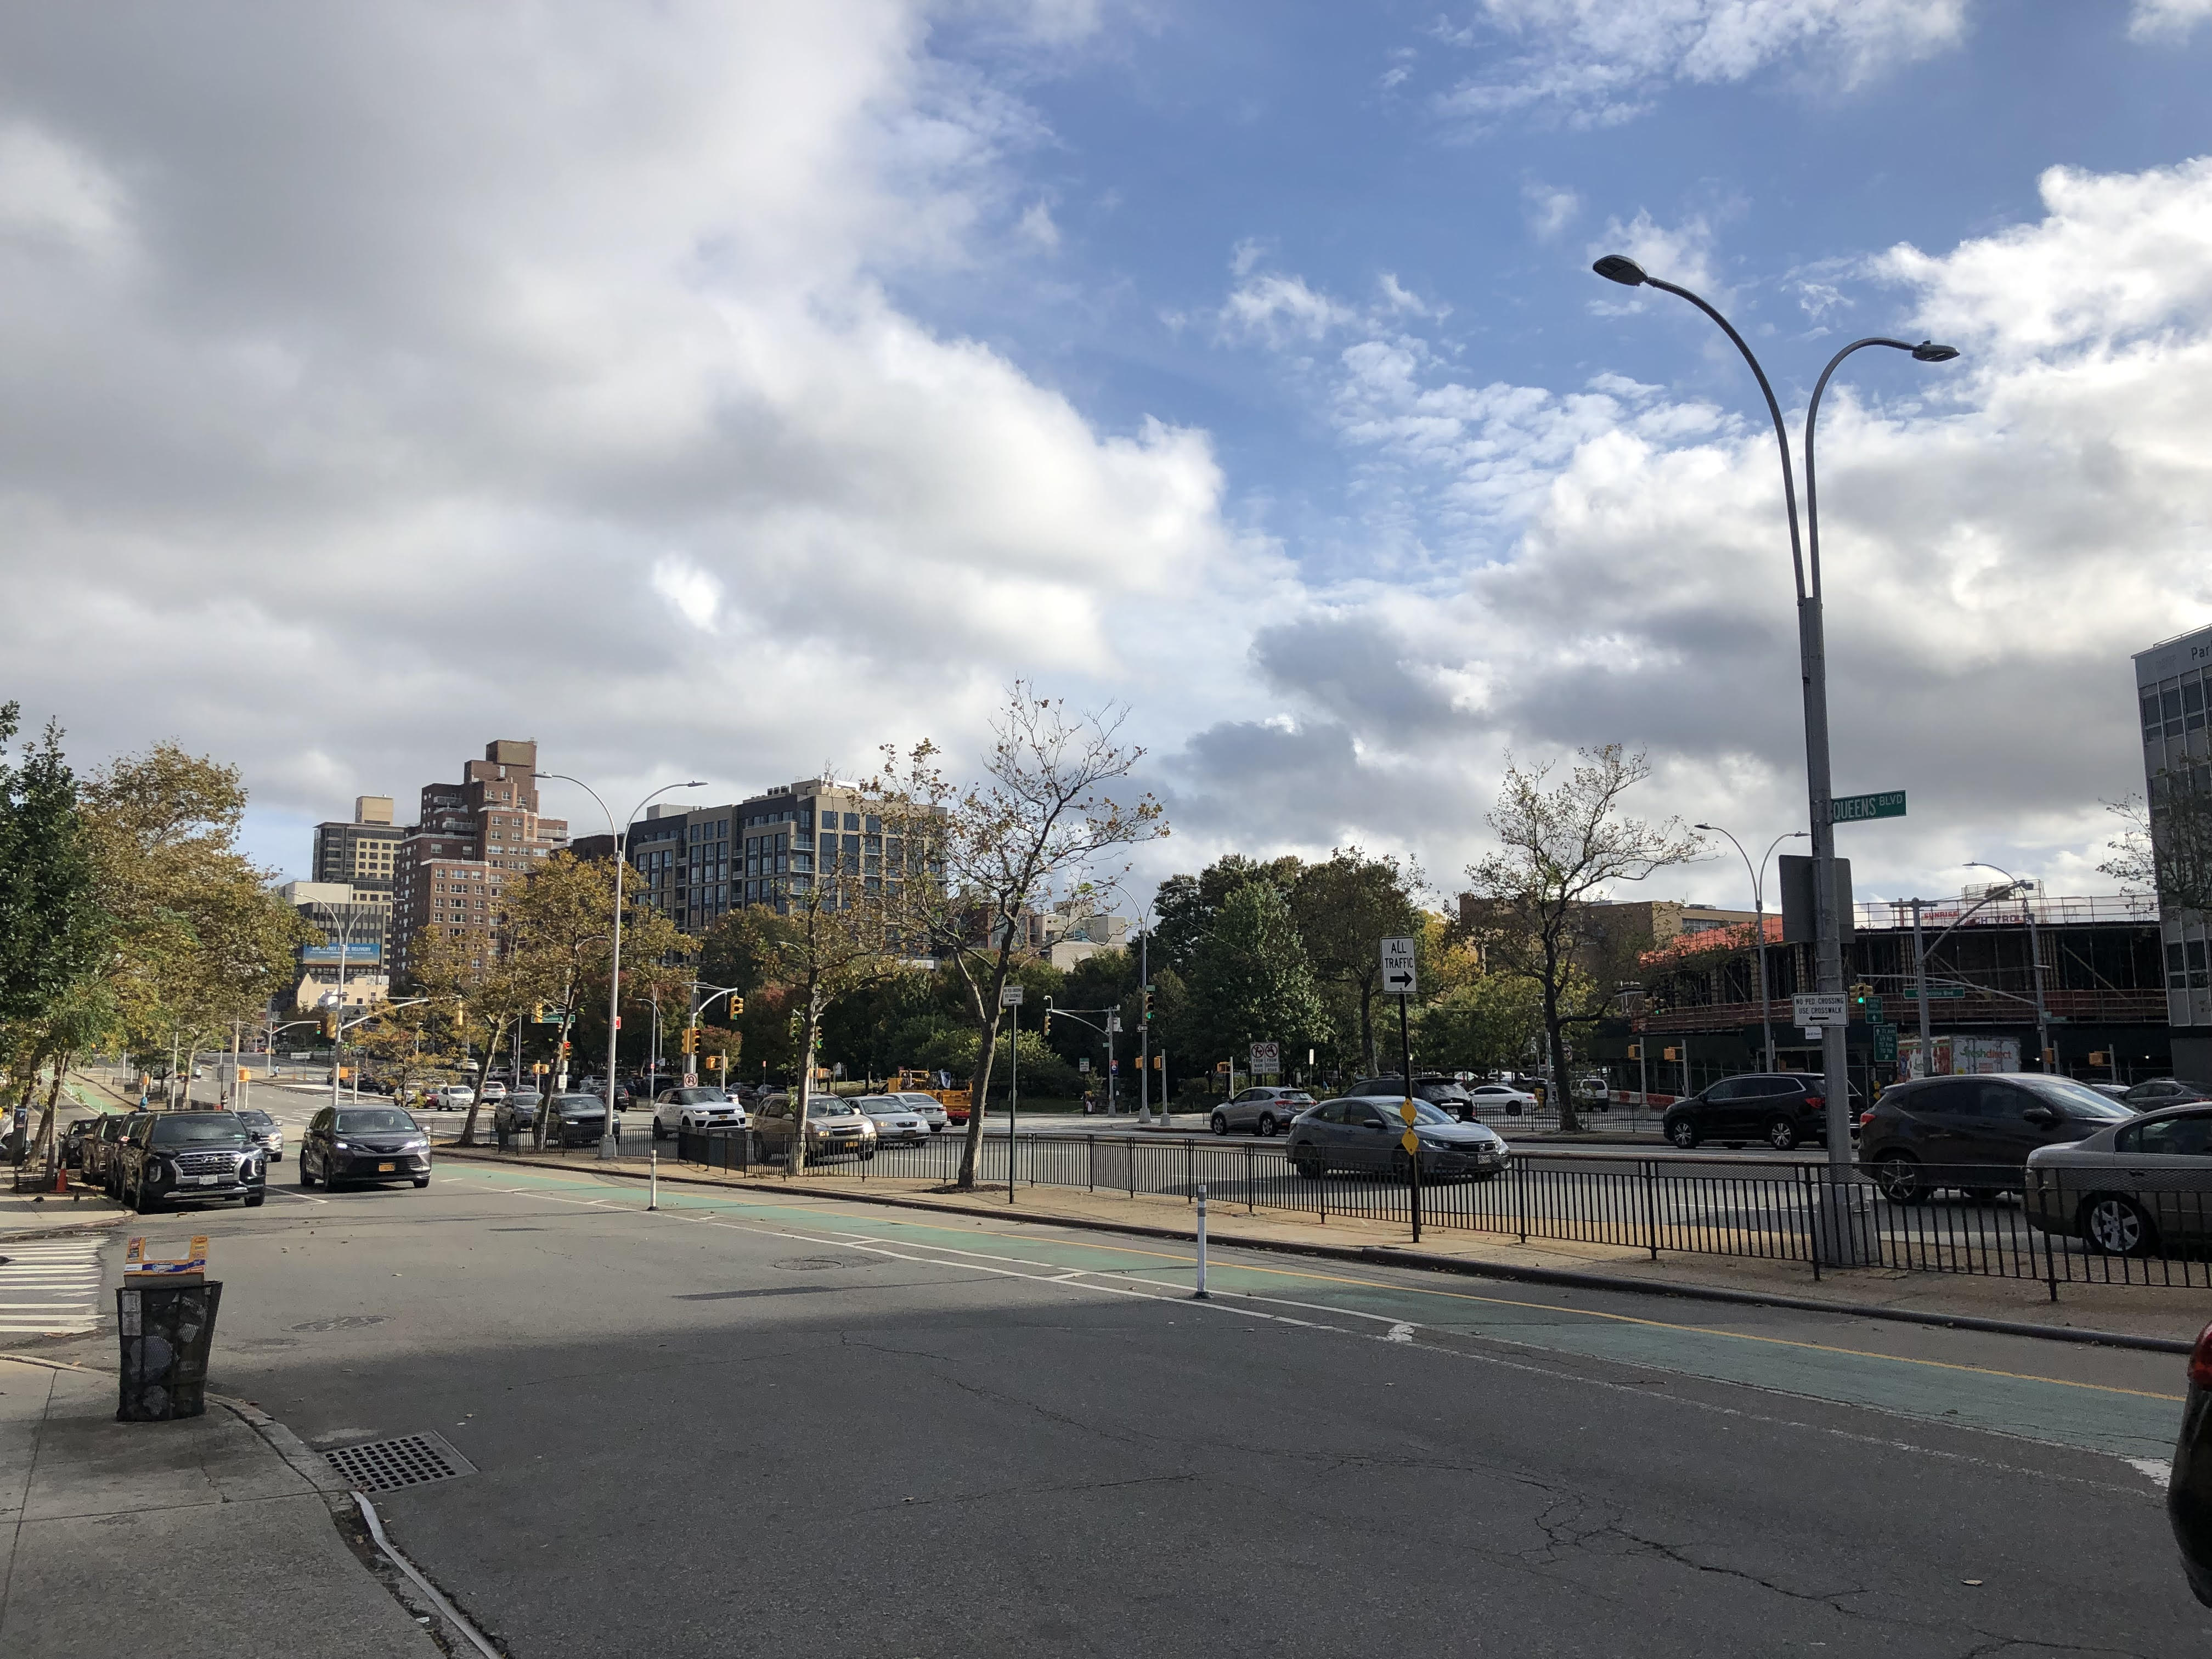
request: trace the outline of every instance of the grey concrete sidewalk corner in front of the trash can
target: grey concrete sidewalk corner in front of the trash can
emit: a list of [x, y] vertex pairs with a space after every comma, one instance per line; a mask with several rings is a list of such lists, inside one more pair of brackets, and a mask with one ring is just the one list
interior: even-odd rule
[[0, 1652], [436, 1659], [341, 1537], [349, 1511], [252, 1407], [115, 1422], [113, 1376], [0, 1358]]

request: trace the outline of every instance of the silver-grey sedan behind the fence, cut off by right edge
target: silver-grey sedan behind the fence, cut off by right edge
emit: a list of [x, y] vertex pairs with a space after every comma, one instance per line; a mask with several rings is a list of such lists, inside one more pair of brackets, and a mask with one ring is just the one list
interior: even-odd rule
[[2212, 1106], [2168, 1106], [2028, 1152], [2031, 1228], [2112, 1256], [2212, 1239]]

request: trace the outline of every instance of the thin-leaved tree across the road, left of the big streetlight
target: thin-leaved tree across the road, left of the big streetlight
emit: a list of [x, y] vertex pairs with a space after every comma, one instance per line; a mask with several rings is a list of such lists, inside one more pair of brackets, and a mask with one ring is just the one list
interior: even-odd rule
[[[1522, 770], [1506, 757], [1498, 805], [1484, 823], [1502, 843], [1467, 867], [1478, 898], [1478, 933], [1493, 969], [1535, 980], [1544, 1006], [1544, 1048], [1559, 1128], [1582, 1128], [1566, 1071], [1564, 1029], [1597, 1018], [1590, 1006], [1610, 987], [1573, 995], [1577, 947], [1597, 938], [1593, 900], [1617, 880], [1644, 880], [1699, 849], [1677, 818], [1648, 825], [1619, 816], [1621, 796], [1650, 776], [1641, 754], [1619, 743], [1579, 750], [1582, 765], [1546, 787], [1551, 765]], [[1584, 980], [1584, 984], [1590, 984]]]

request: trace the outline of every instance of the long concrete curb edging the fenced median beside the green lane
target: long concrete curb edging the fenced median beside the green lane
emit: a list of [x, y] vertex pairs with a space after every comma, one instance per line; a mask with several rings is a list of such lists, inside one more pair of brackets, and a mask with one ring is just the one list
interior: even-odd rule
[[[478, 1148], [440, 1148], [451, 1157], [471, 1164], [513, 1164], [518, 1168], [544, 1168], [535, 1159], [484, 1152]], [[597, 1175], [622, 1181], [644, 1181], [633, 1170], [611, 1170], [595, 1166]], [[1159, 1228], [1144, 1221], [1106, 1221], [1093, 1217], [1024, 1214], [1018, 1203], [925, 1203], [896, 1192], [845, 1192], [818, 1186], [785, 1186], [783, 1181], [708, 1181], [697, 1175], [661, 1172], [664, 1186], [703, 1186], [712, 1190], [739, 1192], [785, 1192], [807, 1199], [841, 1199], [847, 1203], [878, 1203], [891, 1210], [925, 1210], [931, 1214], [964, 1214], [989, 1221], [1026, 1221], [1040, 1228], [1075, 1228], [1079, 1232], [1115, 1232], [1130, 1239], [1172, 1239], [1190, 1243], [1192, 1232], [1181, 1228]], [[1254, 1239], [1237, 1234], [1219, 1223], [1208, 1223], [1208, 1243], [1234, 1245], [1237, 1250], [1272, 1250], [1285, 1256], [1318, 1256], [1323, 1261], [1354, 1261], [1378, 1267], [1420, 1267], [1425, 1272], [1464, 1274], [1469, 1279], [1506, 1279], [1524, 1285], [1559, 1285], [1564, 1290], [1606, 1290], [1635, 1296], [1681, 1296], [1686, 1301], [1732, 1303], [1736, 1307], [1790, 1307], [1805, 1314], [1838, 1314], [1845, 1318], [1887, 1318], [1898, 1325], [1938, 1325], [1962, 1332], [1991, 1332], [1995, 1336], [2037, 1336], [2048, 1343], [2088, 1343], [2093, 1347], [2126, 1347], [2143, 1354], [2190, 1354], [2192, 1345], [2179, 1336], [2135, 1336], [2130, 1332], [2097, 1332], [2075, 1325], [2033, 1325], [2015, 1318], [1982, 1318], [1980, 1314], [1929, 1314], [1918, 1307], [1882, 1307], [1878, 1303], [1845, 1303], [1823, 1296], [1787, 1296], [1765, 1290], [1730, 1290], [1725, 1285], [1650, 1283], [1646, 1279], [1621, 1279], [1617, 1274], [1577, 1272], [1573, 1267], [1515, 1267], [1504, 1261], [1467, 1261], [1462, 1256], [1438, 1256], [1427, 1250], [1396, 1250], [1389, 1245], [1327, 1245], [1303, 1239]]]

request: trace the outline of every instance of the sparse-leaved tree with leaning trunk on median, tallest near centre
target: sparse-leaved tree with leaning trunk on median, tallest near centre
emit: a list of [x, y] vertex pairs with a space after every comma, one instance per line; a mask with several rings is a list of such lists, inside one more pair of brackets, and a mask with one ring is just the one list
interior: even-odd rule
[[[984, 781], [949, 787], [938, 748], [927, 741], [902, 768], [885, 757], [876, 785], [885, 830], [898, 825], [909, 854], [916, 843], [927, 847], [902, 880], [902, 925], [911, 945], [947, 962], [967, 993], [978, 1108], [991, 1088], [1006, 980], [1031, 956], [1029, 918], [1057, 898], [1088, 894], [1099, 860], [1168, 834], [1150, 794], [1124, 805], [1108, 792], [1144, 759], [1141, 748], [1121, 741], [1121, 721], [1115, 708], [1071, 717], [1057, 697], [1015, 681], [991, 726]], [[960, 1188], [973, 1190], [980, 1155], [982, 1110], [971, 1110]]]

